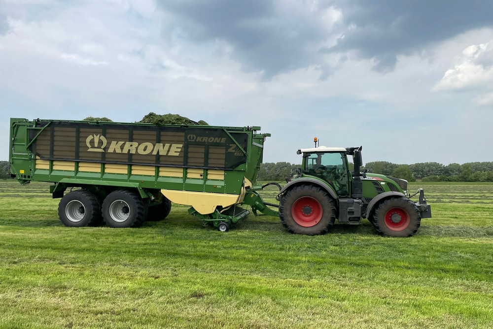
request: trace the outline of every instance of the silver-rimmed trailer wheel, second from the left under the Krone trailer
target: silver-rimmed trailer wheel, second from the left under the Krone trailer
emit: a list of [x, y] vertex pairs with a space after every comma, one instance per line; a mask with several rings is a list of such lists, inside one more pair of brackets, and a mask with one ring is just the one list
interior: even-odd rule
[[135, 228], [142, 225], [147, 215], [147, 205], [134, 192], [113, 191], [103, 201], [103, 218], [112, 228]]

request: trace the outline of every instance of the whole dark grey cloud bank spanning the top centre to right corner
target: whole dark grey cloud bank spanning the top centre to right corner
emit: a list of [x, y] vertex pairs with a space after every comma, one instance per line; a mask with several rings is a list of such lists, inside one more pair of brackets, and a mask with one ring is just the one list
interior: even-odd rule
[[[265, 78], [311, 65], [320, 67], [321, 78], [326, 78], [334, 69], [326, 63], [327, 54], [349, 51], [360, 59], [374, 60], [374, 69], [385, 73], [395, 68], [398, 55], [493, 26], [491, 0], [317, 3], [315, 11], [310, 11], [304, 1], [158, 0], [158, 8], [173, 19], [165, 24], [164, 38], [177, 29], [192, 42], [225, 40], [234, 47], [233, 56], [244, 70], [263, 70]], [[343, 15], [343, 22], [332, 29], [320, 15], [329, 6]], [[314, 50], [314, 45], [320, 47], [335, 35], [344, 37], [332, 47]]]

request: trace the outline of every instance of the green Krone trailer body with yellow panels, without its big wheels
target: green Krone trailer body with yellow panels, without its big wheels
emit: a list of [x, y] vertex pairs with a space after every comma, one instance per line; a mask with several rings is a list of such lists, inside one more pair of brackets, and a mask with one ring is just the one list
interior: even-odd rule
[[72, 187], [100, 201], [133, 191], [144, 206], [171, 200], [206, 222], [231, 224], [247, 214], [235, 209], [256, 182], [270, 136], [259, 130], [12, 118], [10, 171], [22, 184], [54, 183], [53, 197]]

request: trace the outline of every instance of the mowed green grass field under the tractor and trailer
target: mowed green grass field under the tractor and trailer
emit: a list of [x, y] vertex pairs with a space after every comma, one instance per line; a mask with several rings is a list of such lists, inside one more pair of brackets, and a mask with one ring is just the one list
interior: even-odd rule
[[221, 233], [178, 205], [66, 228], [48, 184], [0, 181], [0, 328], [492, 328], [493, 184], [420, 186], [433, 218], [384, 238], [253, 215]]

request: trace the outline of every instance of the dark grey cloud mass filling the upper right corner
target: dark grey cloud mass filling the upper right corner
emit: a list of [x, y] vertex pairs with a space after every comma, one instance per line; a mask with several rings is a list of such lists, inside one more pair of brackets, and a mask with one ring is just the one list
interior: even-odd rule
[[326, 52], [354, 50], [374, 59], [377, 71], [391, 71], [397, 55], [419, 52], [426, 45], [460, 33], [493, 26], [491, 0], [355, 0], [341, 2], [344, 37]]

